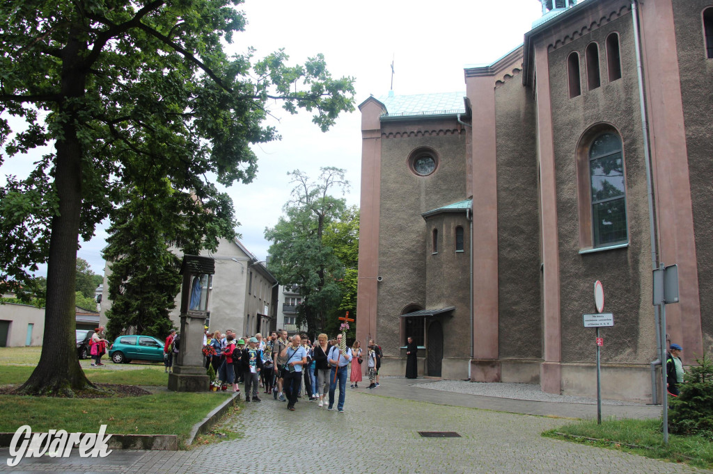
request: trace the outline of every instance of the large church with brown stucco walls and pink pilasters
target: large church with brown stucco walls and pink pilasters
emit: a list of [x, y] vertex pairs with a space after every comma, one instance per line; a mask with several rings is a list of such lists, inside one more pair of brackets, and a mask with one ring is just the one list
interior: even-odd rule
[[[554, 4], [553, 4], [554, 2]], [[361, 110], [356, 337], [382, 374], [651, 401], [652, 269], [684, 364], [713, 348], [713, 0], [542, 0], [523, 46], [465, 92]]]

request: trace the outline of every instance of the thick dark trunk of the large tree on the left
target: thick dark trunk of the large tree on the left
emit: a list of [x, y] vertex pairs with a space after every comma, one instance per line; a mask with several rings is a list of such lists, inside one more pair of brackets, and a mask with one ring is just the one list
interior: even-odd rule
[[[86, 72], [81, 68], [78, 38], [63, 51], [62, 92], [65, 98], [84, 95]], [[66, 122], [63, 138], [56, 142], [55, 187], [59, 214], [51, 222], [47, 265], [47, 297], [42, 353], [30, 378], [18, 389], [23, 394], [73, 396], [76, 390], [96, 389], [79, 365], [75, 338], [75, 276], [81, 211], [82, 149], [77, 137], [76, 107], [60, 106]]]

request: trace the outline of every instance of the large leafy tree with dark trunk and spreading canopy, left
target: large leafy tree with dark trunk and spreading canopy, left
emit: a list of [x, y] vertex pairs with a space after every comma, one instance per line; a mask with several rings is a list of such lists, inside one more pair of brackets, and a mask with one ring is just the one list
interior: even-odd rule
[[[122, 226], [150, 212], [138, 201], [155, 201], [164, 231], [179, 223], [162, 238], [215, 248], [235, 222], [214, 181], [255, 176], [250, 144], [279, 138], [263, 125], [274, 100], [312, 112], [322, 130], [354, 109], [352, 78], [332, 78], [320, 55], [304, 65], [288, 65], [282, 50], [229, 56], [225, 44], [246, 23], [240, 3], [0, 2], [2, 159], [55, 149], [0, 188], [0, 290], [31, 283], [48, 263], [45, 344], [22, 392], [93, 387], [74, 349], [78, 236], [91, 238], [107, 216]], [[118, 211], [129, 202], [130, 212]]]

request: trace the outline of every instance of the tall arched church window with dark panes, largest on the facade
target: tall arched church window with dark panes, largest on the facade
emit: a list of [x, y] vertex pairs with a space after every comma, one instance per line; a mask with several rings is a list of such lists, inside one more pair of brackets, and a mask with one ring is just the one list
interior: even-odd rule
[[613, 133], [597, 136], [589, 149], [593, 245], [627, 241], [624, 159], [621, 139]]

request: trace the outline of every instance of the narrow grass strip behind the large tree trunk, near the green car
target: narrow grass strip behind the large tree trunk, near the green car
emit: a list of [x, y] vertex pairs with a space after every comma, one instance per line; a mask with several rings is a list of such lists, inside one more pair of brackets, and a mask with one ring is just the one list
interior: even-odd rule
[[[23, 384], [34, 367], [0, 365], [0, 385]], [[86, 369], [87, 378], [97, 384], [163, 385], [168, 384], [168, 374], [163, 367], [135, 370]]]

